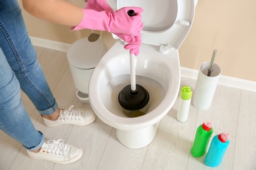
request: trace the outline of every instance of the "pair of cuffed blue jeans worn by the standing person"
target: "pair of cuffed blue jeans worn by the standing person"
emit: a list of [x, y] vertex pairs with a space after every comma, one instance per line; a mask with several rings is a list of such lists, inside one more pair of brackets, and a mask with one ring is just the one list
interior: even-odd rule
[[28, 150], [37, 150], [45, 137], [33, 126], [20, 89], [40, 114], [53, 114], [58, 109], [17, 0], [0, 0], [0, 129]]

